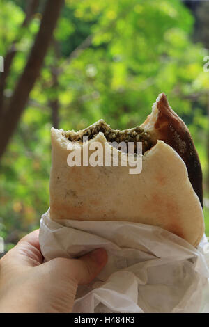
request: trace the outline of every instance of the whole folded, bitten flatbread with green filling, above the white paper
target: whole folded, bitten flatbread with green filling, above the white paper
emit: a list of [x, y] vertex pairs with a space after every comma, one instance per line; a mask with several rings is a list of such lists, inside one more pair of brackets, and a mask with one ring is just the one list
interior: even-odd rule
[[[84, 142], [84, 136], [88, 141]], [[142, 171], [129, 166], [69, 166], [69, 145], [81, 150], [98, 142], [142, 142]], [[71, 149], [71, 147], [70, 147]], [[89, 151], [91, 155], [92, 151]], [[204, 231], [199, 157], [183, 120], [162, 93], [140, 126], [114, 130], [99, 120], [82, 131], [52, 128], [50, 217], [53, 220], [130, 221], [159, 226], [197, 246]]]

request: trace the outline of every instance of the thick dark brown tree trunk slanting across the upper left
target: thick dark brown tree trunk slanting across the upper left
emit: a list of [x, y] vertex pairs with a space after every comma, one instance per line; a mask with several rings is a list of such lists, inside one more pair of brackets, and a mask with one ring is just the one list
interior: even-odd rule
[[64, 0], [47, 0], [40, 29], [36, 35], [36, 40], [31, 49], [31, 54], [29, 55], [26, 67], [24, 68], [20, 80], [17, 82], [13, 96], [8, 104], [8, 108], [6, 109], [3, 118], [1, 118], [0, 159], [8, 145], [10, 137], [13, 135], [17, 127], [20, 116], [28, 102], [30, 92], [40, 74], [63, 3]]

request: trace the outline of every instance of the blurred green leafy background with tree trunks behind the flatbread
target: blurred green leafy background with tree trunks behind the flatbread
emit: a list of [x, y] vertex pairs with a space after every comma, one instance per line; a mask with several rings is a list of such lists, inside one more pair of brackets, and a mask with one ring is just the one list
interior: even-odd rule
[[0, 0], [0, 236], [49, 207], [50, 128], [139, 125], [159, 93], [188, 125], [209, 235], [209, 1]]

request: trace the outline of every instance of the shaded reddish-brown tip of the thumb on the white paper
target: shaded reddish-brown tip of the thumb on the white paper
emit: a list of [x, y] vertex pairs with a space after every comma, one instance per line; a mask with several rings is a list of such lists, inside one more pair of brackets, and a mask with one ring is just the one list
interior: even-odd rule
[[107, 264], [107, 259], [107, 252], [103, 248], [98, 248], [79, 259], [71, 260], [72, 278], [75, 278], [79, 285], [88, 284], [98, 276], [98, 273]]

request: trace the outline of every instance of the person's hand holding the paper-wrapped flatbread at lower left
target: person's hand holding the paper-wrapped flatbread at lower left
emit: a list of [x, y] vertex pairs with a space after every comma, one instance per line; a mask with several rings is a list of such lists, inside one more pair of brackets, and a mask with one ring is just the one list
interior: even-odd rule
[[77, 285], [91, 282], [107, 263], [102, 248], [42, 263], [38, 234], [26, 235], [0, 260], [0, 312], [72, 312]]

